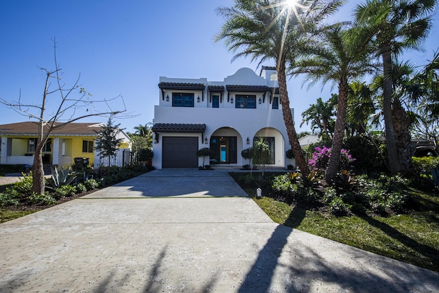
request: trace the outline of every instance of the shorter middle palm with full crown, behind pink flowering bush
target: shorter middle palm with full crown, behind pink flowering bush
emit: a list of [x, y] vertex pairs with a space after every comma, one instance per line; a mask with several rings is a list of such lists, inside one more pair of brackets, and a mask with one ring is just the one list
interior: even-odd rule
[[333, 181], [338, 171], [346, 127], [349, 82], [372, 73], [373, 69], [354, 28], [347, 30], [344, 26], [338, 23], [327, 27], [322, 32], [319, 43], [311, 43], [311, 47], [305, 47], [307, 55], [297, 60], [293, 70], [294, 73], [306, 73], [308, 80], [313, 80], [311, 84], [322, 80], [323, 84], [333, 82], [338, 86], [337, 120], [325, 178], [327, 183]]

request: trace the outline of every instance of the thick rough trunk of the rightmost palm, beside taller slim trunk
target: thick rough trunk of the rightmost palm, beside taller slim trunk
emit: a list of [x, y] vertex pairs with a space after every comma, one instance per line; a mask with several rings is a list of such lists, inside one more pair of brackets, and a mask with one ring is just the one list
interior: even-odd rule
[[394, 99], [392, 114], [401, 171], [410, 172], [413, 155], [411, 146], [412, 137], [410, 136], [410, 119], [399, 99]]

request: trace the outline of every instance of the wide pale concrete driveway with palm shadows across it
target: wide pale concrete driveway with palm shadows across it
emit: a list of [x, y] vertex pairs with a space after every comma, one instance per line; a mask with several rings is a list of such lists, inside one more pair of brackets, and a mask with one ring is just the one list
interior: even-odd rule
[[223, 170], [156, 170], [0, 239], [0, 292], [439, 292], [436, 272], [275, 224]]

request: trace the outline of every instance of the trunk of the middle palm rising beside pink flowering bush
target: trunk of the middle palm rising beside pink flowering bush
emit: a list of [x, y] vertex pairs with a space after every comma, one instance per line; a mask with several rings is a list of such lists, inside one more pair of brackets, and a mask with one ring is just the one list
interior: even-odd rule
[[348, 104], [348, 84], [341, 82], [338, 86], [337, 120], [335, 121], [334, 137], [325, 180], [331, 183], [337, 176], [342, 150], [344, 128], [346, 126], [346, 107]]

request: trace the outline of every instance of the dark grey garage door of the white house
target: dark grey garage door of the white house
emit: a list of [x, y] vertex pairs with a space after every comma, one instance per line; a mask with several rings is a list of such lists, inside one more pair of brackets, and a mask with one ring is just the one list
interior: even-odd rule
[[198, 137], [163, 137], [163, 168], [197, 168]]

